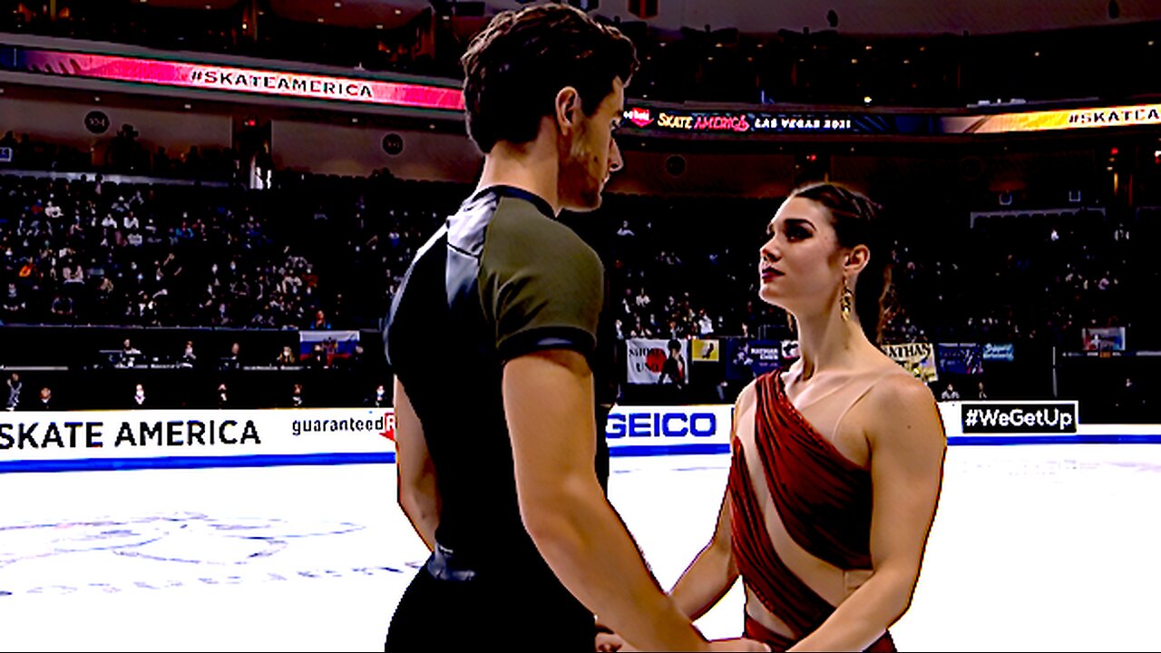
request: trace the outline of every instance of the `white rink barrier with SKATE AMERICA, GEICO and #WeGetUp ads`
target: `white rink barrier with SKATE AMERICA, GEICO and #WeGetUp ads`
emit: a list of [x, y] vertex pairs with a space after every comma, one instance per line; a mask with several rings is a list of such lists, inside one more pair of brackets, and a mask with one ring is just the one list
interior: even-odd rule
[[[1161, 425], [1079, 424], [1075, 401], [940, 402], [950, 445], [1161, 444]], [[618, 407], [613, 457], [724, 454], [734, 407]], [[0, 412], [0, 473], [395, 462], [392, 409]]]

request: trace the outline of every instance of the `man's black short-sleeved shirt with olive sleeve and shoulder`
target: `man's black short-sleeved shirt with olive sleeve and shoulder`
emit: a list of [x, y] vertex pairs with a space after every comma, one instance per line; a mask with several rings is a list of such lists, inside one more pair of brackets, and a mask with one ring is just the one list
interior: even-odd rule
[[[515, 188], [475, 193], [416, 254], [392, 300], [384, 345], [435, 465], [442, 546], [542, 564], [520, 519], [503, 369], [520, 356], [569, 349], [589, 359], [598, 395], [607, 395], [601, 389], [615, 387], [605, 379], [607, 347], [615, 342], [598, 340], [605, 296], [597, 252], [547, 202]], [[604, 483], [612, 400], [597, 401], [594, 465]]]

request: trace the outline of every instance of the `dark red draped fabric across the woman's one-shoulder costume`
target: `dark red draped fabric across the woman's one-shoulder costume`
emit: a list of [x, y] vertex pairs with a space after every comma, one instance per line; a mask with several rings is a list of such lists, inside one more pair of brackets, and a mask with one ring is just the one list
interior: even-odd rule
[[822, 625], [835, 608], [774, 551], [745, 454], [758, 455], [764, 485], [791, 538], [841, 569], [871, 567], [871, 474], [806, 421], [777, 371], [760, 376], [756, 389], [756, 451], [744, 452], [735, 443], [729, 474], [734, 559], [747, 587], [796, 640]]

